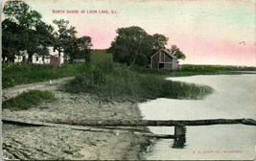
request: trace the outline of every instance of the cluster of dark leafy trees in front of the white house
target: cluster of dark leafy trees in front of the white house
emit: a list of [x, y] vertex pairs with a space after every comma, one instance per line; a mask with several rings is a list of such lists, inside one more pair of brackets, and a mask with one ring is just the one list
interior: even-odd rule
[[42, 21], [39, 12], [22, 1], [7, 1], [2, 21], [2, 50], [3, 62], [13, 62], [16, 56], [25, 57], [23, 61], [31, 63], [34, 55], [44, 60], [49, 56], [48, 47], [52, 46], [65, 59], [73, 61], [74, 58], [90, 58], [92, 46], [90, 36], [77, 37], [76, 28], [69, 25], [68, 20], [54, 20], [57, 26]]

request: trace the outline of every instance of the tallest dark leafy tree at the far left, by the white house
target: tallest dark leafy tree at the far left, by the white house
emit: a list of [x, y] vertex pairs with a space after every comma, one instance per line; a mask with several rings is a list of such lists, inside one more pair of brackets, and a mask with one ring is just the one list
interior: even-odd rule
[[[35, 53], [38, 55], [49, 54], [46, 49], [46, 29], [41, 21], [41, 14], [31, 9], [22, 1], [8, 1], [4, 6], [5, 20], [3, 26], [3, 52], [4, 59], [14, 61], [15, 55], [21, 55], [20, 51], [26, 51], [28, 62], [32, 62]], [[49, 27], [49, 26], [48, 26]]]

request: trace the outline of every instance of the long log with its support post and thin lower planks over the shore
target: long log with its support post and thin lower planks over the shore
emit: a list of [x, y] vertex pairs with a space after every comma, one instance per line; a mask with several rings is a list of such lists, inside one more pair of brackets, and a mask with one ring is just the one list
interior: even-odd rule
[[[129, 127], [175, 127], [175, 135], [166, 134], [153, 134], [149, 132], [143, 132], [142, 129], [136, 131], [135, 128], [131, 128], [134, 134], [144, 135], [148, 137], [158, 138], [158, 139], [176, 139], [179, 137], [184, 137], [185, 126], [210, 126], [210, 125], [226, 125], [226, 124], [244, 124], [248, 126], [256, 126], [256, 121], [253, 119], [212, 119], [212, 120], [186, 120], [186, 121], [152, 121], [152, 120], [103, 120], [103, 121], [93, 121], [93, 120], [65, 120], [65, 121], [54, 121], [53, 123], [46, 122], [35, 122], [35, 121], [25, 121], [17, 119], [3, 118], [2, 122], [4, 124], [12, 124], [24, 127], [67, 127], [75, 130], [84, 130], [91, 132], [113, 132], [115, 130], [126, 130], [130, 131]], [[111, 129], [105, 129], [105, 128]], [[120, 128], [121, 127], [121, 128]], [[124, 132], [122, 132], [124, 133]], [[119, 133], [115, 133], [118, 135]]]

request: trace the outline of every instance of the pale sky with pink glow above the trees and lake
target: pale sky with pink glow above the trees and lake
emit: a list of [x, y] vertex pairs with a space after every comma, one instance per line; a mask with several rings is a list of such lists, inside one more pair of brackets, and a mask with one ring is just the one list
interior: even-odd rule
[[[187, 56], [182, 63], [256, 66], [255, 2], [249, 0], [25, 0], [43, 20], [70, 20], [78, 36], [106, 49], [118, 28], [139, 26], [169, 37]], [[116, 14], [53, 13], [53, 10], [115, 10]], [[245, 42], [240, 44], [240, 42]]]

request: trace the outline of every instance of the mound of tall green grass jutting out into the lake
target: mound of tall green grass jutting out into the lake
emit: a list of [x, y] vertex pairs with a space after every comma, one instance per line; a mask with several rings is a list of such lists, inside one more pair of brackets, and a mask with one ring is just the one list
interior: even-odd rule
[[65, 84], [68, 92], [93, 93], [107, 98], [201, 99], [212, 92], [209, 86], [166, 81], [163, 76], [136, 72], [133, 68], [105, 61]]

